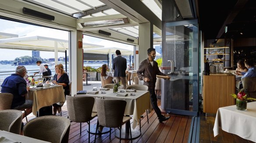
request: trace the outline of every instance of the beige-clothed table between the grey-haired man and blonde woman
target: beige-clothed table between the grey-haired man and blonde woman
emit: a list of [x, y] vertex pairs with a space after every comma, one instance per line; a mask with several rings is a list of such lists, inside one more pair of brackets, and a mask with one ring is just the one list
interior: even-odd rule
[[45, 106], [51, 106], [54, 103], [65, 102], [66, 98], [62, 85], [51, 85], [50, 87], [31, 88], [28, 92], [27, 99], [33, 101], [32, 113]]

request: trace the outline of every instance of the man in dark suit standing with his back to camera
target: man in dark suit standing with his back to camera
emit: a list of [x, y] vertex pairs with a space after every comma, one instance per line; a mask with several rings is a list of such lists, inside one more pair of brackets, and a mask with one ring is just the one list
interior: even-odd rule
[[114, 78], [116, 82], [122, 82], [124, 85], [124, 89], [126, 88], [126, 58], [121, 56], [121, 52], [119, 50], [116, 51], [117, 57], [113, 59], [113, 70], [114, 70]]

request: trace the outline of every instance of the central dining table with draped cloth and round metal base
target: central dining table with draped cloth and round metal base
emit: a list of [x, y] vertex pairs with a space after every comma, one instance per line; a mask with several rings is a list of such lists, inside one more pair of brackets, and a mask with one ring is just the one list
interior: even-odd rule
[[[87, 91], [89, 92], [89, 91]], [[132, 123], [132, 139], [135, 139], [140, 136], [140, 131], [135, 129], [136, 126], [139, 125], [140, 116], [146, 111], [149, 112], [152, 109], [152, 105], [150, 102], [150, 95], [148, 91], [140, 91], [136, 90], [135, 95], [130, 95], [130, 92], [123, 92], [128, 93], [128, 96], [117, 96], [117, 93], [113, 93], [113, 89], [107, 90], [105, 94], [102, 94], [100, 91], [98, 94], [85, 94], [85, 95], [75, 95], [75, 96], [89, 96], [94, 97], [96, 99], [112, 99], [112, 100], [124, 100], [127, 102], [124, 115], [132, 116], [133, 123]], [[97, 112], [96, 102], [94, 103], [92, 112]], [[125, 129], [122, 128], [122, 139], [130, 139], [130, 131], [129, 131], [129, 123], [126, 123]], [[115, 136], [119, 137], [119, 130], [115, 132]]]

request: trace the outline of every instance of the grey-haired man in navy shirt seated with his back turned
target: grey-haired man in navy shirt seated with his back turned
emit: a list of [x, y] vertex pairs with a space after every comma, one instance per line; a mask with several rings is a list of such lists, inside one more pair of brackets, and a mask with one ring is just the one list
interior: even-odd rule
[[[32, 100], [26, 100], [26, 95], [28, 94], [29, 87], [24, 79], [27, 70], [24, 66], [18, 66], [16, 68], [15, 74], [11, 74], [4, 79], [1, 85], [2, 93], [11, 93], [14, 97], [11, 103], [11, 109], [26, 109], [26, 114], [32, 112]], [[25, 118], [25, 113], [23, 113], [22, 119]]]

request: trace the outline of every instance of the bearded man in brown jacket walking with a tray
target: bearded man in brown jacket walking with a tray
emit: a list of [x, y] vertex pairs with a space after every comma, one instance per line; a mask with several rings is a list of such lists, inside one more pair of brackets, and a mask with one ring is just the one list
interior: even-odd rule
[[157, 106], [155, 86], [156, 86], [156, 75], [163, 75], [163, 76], [166, 76], [166, 75], [159, 70], [157, 62], [154, 61], [156, 57], [156, 50], [154, 48], [148, 49], [148, 57], [149, 58], [147, 58], [146, 60], [140, 63], [139, 69], [137, 71], [137, 75], [140, 80], [144, 81], [143, 85], [147, 85], [149, 87], [151, 104], [153, 106], [153, 109], [156, 112], [159, 122], [162, 123], [163, 121], [166, 121], [170, 117], [164, 117]]

